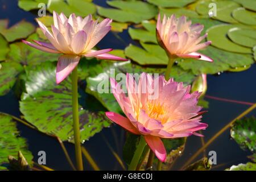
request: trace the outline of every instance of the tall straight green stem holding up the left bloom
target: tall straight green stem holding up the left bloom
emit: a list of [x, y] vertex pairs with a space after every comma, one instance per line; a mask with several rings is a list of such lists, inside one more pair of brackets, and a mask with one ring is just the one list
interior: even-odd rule
[[82, 171], [82, 151], [80, 143], [80, 125], [79, 125], [79, 106], [77, 93], [77, 67], [73, 69], [72, 74], [72, 109], [73, 109], [73, 131], [76, 149], [76, 164], [77, 169]]

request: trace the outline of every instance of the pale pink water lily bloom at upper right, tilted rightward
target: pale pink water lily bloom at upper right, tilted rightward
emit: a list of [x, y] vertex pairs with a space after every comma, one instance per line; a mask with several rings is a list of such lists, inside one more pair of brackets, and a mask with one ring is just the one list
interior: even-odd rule
[[207, 34], [200, 36], [204, 26], [199, 23], [191, 23], [191, 20], [187, 22], [185, 16], [180, 16], [177, 19], [174, 14], [170, 18], [166, 18], [164, 15], [161, 22], [159, 14], [156, 24], [156, 37], [159, 45], [166, 50], [168, 56], [213, 61], [210, 57], [196, 52], [209, 46], [212, 42], [200, 43], [207, 37]]

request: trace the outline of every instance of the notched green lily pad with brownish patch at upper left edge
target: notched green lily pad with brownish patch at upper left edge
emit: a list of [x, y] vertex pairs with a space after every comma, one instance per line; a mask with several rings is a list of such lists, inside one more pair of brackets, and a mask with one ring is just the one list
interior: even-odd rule
[[25, 20], [21, 20], [9, 28], [8, 24], [8, 19], [0, 20], [0, 34], [2, 34], [8, 42], [27, 38], [28, 35], [35, 31], [34, 25]]

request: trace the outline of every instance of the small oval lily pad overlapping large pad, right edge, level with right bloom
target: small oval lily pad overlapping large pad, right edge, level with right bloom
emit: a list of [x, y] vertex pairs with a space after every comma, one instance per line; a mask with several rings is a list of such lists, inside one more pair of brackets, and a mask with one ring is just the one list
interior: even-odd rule
[[253, 48], [256, 46], [256, 30], [245, 28], [231, 28], [228, 31], [229, 39], [241, 46]]

